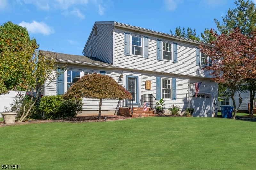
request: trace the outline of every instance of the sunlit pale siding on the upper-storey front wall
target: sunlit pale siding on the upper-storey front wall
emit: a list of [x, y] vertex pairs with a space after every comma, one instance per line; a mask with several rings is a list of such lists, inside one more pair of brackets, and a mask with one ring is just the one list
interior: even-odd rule
[[[124, 55], [124, 32], [118, 27], [114, 29], [114, 64], [118, 68], [140, 69], [146, 71], [156, 71], [162, 73], [172, 73], [187, 76], [210, 77], [209, 72], [201, 70], [201, 66], [196, 66], [196, 47], [182, 42], [167, 40], [142, 33], [134, 33], [140, 36], [149, 37], [148, 59], [137, 56]], [[156, 40], [176, 42], [178, 44], [178, 63], [156, 60]], [[172, 49], [173, 50], [173, 49]]]

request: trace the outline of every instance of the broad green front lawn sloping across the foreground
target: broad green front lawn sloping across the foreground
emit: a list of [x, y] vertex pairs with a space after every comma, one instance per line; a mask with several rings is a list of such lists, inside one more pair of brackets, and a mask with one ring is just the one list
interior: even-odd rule
[[[246, 127], [250, 127], [249, 129]], [[22, 169], [255, 169], [256, 123], [149, 117], [0, 128], [0, 164]]]

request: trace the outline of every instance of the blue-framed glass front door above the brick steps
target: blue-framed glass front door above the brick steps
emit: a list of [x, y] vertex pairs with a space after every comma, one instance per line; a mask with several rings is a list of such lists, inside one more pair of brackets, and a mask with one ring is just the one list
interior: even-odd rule
[[127, 76], [127, 90], [133, 97], [133, 103], [138, 103], [138, 77]]

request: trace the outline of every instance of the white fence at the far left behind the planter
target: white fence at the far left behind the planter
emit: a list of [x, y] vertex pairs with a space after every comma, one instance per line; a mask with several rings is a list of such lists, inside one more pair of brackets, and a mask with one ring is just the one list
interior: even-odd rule
[[[24, 91], [21, 91], [22, 94], [24, 94]], [[13, 103], [13, 99], [17, 96], [17, 91], [10, 91], [9, 94], [0, 95], [0, 113], [4, 112], [4, 106], [9, 107], [10, 103]], [[0, 117], [2, 115], [0, 114]]]

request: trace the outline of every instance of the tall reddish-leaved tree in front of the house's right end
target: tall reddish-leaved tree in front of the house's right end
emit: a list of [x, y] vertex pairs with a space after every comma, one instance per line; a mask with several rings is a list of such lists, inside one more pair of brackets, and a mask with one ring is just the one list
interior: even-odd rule
[[211, 30], [216, 37], [215, 48], [201, 44], [201, 53], [209, 56], [211, 66], [205, 66], [202, 70], [210, 71], [213, 81], [227, 85], [231, 90], [231, 99], [234, 106], [235, 119], [236, 112], [241, 103], [236, 107], [234, 96], [236, 92], [241, 99], [239, 88], [249, 78], [255, 78], [256, 73], [256, 33], [243, 35], [239, 28], [229, 30], [227, 33], [218, 35]]

